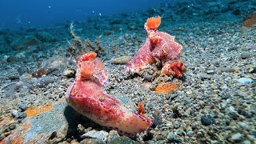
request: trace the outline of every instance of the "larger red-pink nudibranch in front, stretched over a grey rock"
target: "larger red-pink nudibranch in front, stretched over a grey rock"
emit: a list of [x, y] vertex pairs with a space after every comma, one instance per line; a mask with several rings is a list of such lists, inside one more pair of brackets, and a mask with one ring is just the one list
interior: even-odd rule
[[118, 130], [119, 134], [133, 135], [149, 128], [153, 121], [144, 114], [138, 103], [138, 112], [132, 112], [113, 96], [104, 93], [109, 74], [97, 54], [89, 52], [78, 60], [77, 74], [66, 94], [66, 102], [94, 122]]

